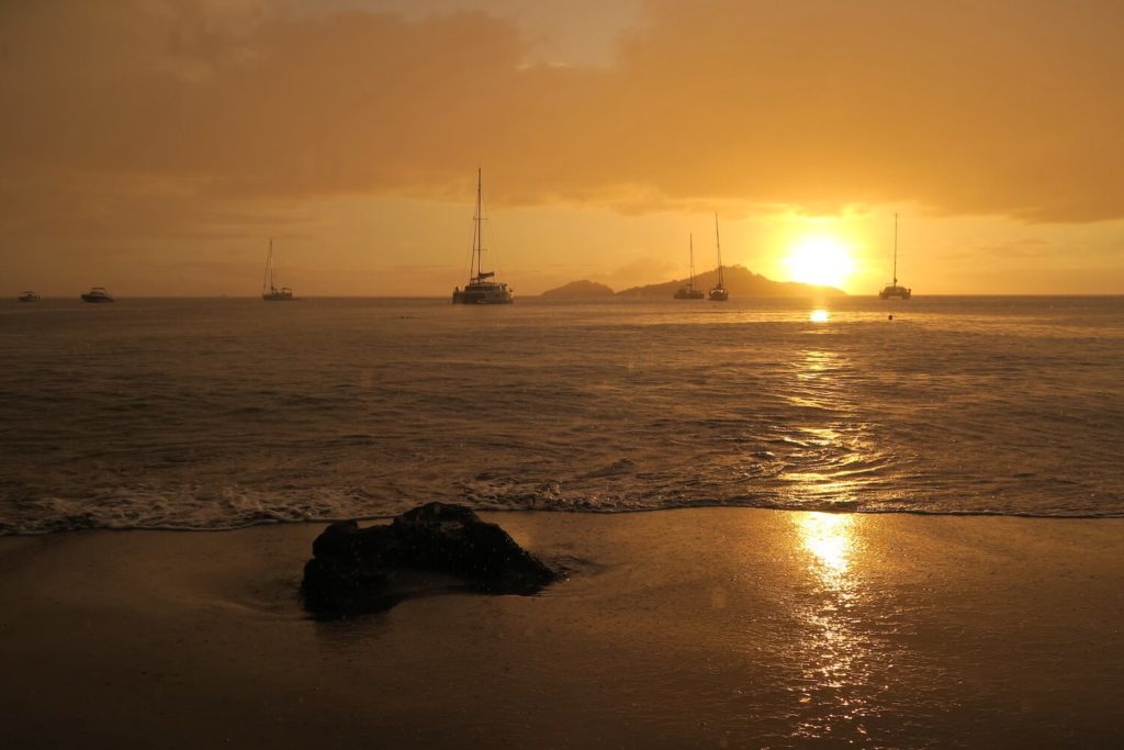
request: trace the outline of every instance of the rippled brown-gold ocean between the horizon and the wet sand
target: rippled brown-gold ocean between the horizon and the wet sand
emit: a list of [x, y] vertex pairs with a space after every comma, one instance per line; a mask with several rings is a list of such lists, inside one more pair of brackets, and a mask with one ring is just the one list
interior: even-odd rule
[[12, 300], [0, 342], [0, 534], [427, 500], [1124, 516], [1121, 297]]

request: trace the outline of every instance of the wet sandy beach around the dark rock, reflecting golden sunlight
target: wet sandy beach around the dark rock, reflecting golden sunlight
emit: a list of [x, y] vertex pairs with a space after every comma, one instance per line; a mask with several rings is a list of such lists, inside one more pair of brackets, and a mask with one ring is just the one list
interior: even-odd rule
[[1124, 739], [1124, 521], [484, 517], [569, 580], [317, 622], [319, 524], [0, 539], [0, 746]]

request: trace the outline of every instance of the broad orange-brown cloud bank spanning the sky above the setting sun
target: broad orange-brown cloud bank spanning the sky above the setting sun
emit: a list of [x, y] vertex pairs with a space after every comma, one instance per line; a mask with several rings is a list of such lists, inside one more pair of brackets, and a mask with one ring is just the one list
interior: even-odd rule
[[6, 3], [0, 188], [85, 228], [107, 182], [144, 196], [118, 211], [221, 223], [460, 200], [480, 163], [493, 205], [1124, 216], [1120, 3], [652, 0], [600, 67], [527, 65], [483, 12], [280, 8]]

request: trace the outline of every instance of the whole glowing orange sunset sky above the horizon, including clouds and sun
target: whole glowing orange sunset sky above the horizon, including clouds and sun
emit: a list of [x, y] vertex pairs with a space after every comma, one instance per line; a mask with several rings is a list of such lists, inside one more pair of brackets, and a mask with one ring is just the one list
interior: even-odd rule
[[[517, 295], [688, 245], [1124, 293], [1116, 0], [0, 0], [0, 295]], [[826, 277], [816, 275], [827, 272]]]

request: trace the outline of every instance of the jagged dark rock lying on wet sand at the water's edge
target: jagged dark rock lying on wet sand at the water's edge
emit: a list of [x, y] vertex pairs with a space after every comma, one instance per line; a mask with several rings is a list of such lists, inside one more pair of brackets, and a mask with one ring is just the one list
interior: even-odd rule
[[452, 587], [534, 594], [559, 575], [496, 524], [460, 505], [428, 503], [389, 526], [334, 523], [312, 542], [301, 589], [320, 615], [388, 609], [419, 593]]

